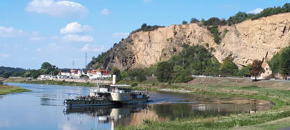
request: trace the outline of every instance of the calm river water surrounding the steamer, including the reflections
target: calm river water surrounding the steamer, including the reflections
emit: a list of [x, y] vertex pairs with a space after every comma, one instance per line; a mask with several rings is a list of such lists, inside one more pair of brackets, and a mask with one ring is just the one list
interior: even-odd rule
[[[265, 111], [270, 101], [216, 94], [149, 91], [144, 103], [99, 107], [66, 108], [62, 103], [68, 92], [78, 95], [78, 86], [7, 83], [32, 90], [0, 95], [0, 129], [114, 129], [134, 125], [144, 118], [170, 121], [192, 116], [217, 116], [227, 113]], [[82, 87], [87, 95], [89, 87]], [[71, 97], [70, 97], [71, 98]]]

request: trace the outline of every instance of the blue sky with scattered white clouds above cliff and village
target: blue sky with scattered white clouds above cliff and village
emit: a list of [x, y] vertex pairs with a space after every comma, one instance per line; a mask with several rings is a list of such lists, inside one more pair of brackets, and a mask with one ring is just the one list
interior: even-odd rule
[[[289, 1], [9, 0], [0, 1], [0, 66], [84, 68], [142, 23], [169, 26], [190, 18], [229, 18]], [[258, 9], [257, 9], [258, 8]]]

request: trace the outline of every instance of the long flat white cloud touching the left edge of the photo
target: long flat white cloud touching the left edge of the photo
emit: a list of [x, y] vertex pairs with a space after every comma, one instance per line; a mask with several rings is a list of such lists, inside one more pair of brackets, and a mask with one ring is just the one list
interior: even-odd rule
[[24, 35], [25, 32], [22, 30], [14, 29], [13, 27], [3, 27], [0, 26], [0, 37], [17, 37]]

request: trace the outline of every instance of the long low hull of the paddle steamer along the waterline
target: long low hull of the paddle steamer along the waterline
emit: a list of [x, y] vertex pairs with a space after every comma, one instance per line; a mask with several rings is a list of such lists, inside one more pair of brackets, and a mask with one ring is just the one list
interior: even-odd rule
[[126, 101], [112, 101], [112, 100], [102, 100], [102, 101], [94, 101], [94, 100], [66, 100], [66, 107], [72, 107], [72, 106], [100, 106], [100, 105], [112, 105], [116, 103], [139, 103], [139, 102], [146, 102], [149, 99], [149, 97], [144, 98], [137, 98], [137, 99], [131, 99]]

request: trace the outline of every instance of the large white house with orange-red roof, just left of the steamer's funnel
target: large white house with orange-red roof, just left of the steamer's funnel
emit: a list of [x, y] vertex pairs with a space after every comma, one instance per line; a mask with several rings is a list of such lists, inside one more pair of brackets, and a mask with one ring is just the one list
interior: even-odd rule
[[89, 79], [106, 79], [111, 77], [108, 70], [101, 70], [100, 68], [97, 70], [88, 70], [87, 75], [89, 76]]

